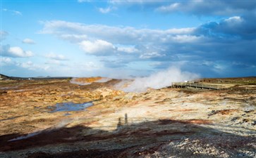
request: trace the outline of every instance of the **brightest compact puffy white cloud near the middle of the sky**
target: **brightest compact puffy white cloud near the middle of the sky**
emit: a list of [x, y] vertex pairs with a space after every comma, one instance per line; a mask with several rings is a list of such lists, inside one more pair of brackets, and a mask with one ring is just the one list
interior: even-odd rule
[[95, 41], [82, 41], [80, 42], [80, 48], [89, 54], [100, 54], [113, 53], [116, 50], [113, 44], [108, 41], [97, 39]]

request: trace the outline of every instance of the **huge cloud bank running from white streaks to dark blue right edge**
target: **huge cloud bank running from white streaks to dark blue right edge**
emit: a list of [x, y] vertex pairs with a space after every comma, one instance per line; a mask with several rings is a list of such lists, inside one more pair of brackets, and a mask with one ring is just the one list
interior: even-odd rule
[[252, 19], [255, 15], [232, 15], [198, 27], [170, 29], [47, 21], [42, 23], [40, 33], [71, 41], [85, 53], [101, 56], [105, 67], [128, 67], [132, 62], [152, 61], [161, 62], [152, 66], [154, 69], [164, 69], [178, 61], [190, 65], [182, 65], [185, 70], [216, 74], [226, 69], [202, 61], [225, 61], [229, 65], [226, 68], [231, 70], [236, 68], [231, 63], [242, 63], [250, 65], [248, 71], [252, 71], [256, 63], [256, 24]]

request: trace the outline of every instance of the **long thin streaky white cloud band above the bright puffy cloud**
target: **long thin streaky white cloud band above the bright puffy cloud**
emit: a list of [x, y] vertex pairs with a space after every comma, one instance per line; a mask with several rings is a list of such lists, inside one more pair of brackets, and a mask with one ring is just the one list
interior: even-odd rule
[[[194, 27], [172, 29], [135, 29], [134, 27], [110, 27], [106, 25], [84, 25], [66, 21], [43, 22], [44, 28], [40, 33], [54, 34], [68, 41], [103, 39], [111, 44], [134, 45], [147, 43], [159, 43], [159, 39], [169, 39], [176, 34], [192, 34]], [[72, 34], [72, 36], [70, 36]], [[76, 36], [76, 37], [75, 37]], [[63, 38], [65, 37], [65, 38]], [[76, 39], [76, 40], [75, 40]]]

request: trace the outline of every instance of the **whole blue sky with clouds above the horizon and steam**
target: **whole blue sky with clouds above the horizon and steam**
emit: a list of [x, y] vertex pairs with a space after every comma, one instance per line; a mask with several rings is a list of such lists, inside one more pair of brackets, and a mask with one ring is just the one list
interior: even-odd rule
[[1, 74], [256, 76], [256, 1], [1, 1]]

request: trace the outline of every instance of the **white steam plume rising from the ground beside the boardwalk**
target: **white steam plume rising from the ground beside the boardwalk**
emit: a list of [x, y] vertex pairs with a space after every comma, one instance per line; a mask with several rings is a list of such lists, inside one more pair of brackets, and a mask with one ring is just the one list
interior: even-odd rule
[[[135, 78], [131, 83], [124, 81], [122, 84], [126, 86], [121, 88], [127, 92], [142, 92], [146, 91], [147, 88], [164, 88], [171, 86], [172, 82], [176, 81], [190, 81], [199, 78], [199, 75], [190, 72], [181, 72], [176, 67], [170, 67], [168, 70], [151, 74], [149, 77]], [[118, 85], [120, 87], [120, 84]]]

